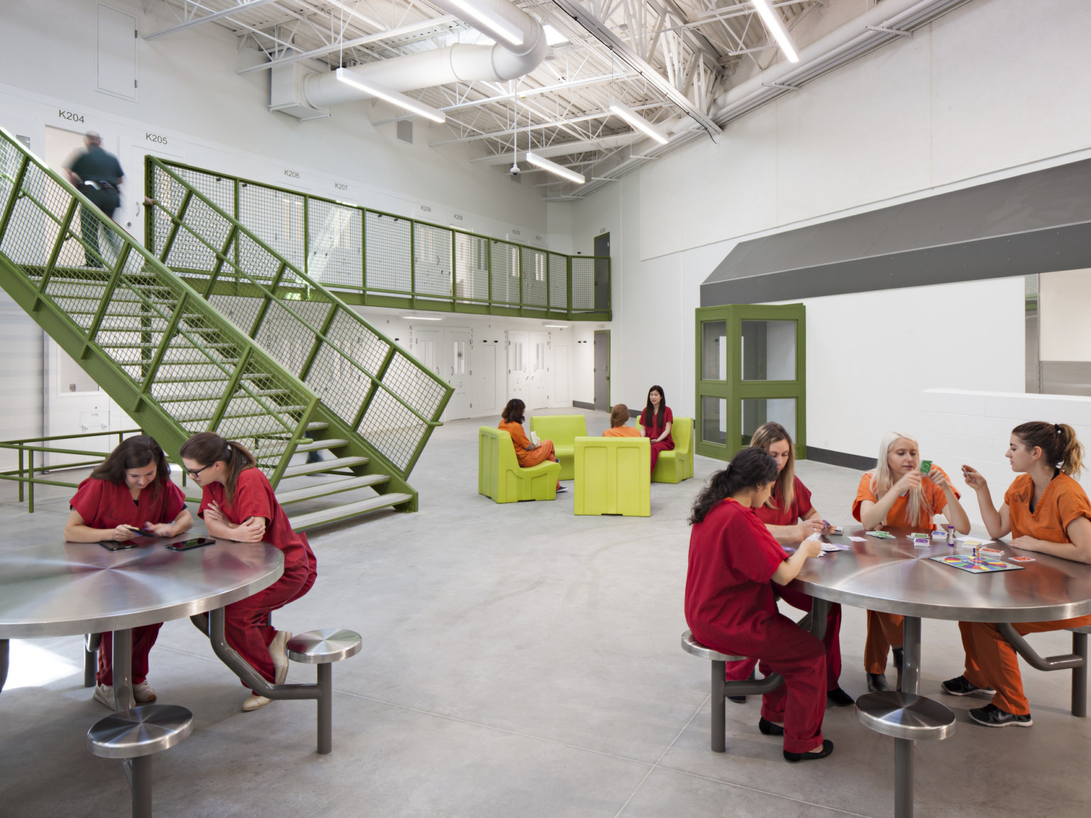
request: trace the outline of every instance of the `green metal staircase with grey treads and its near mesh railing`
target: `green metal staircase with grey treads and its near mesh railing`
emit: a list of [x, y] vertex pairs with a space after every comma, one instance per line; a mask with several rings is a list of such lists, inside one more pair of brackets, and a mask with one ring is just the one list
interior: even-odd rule
[[[97, 241], [83, 236], [88, 220]], [[250, 445], [283, 503], [321, 505], [302, 506], [291, 517], [295, 527], [377, 508], [416, 509], [405, 465], [411, 468], [435, 420], [385, 399], [403, 409], [391, 414], [404, 426], [387, 424], [387, 437], [380, 436], [408, 448], [405, 465], [395, 467], [362, 440], [359, 424], [347, 423], [320, 398], [316, 389], [324, 384], [315, 373], [332, 374], [324, 345], [314, 345], [311, 383], [304, 383], [2, 130], [0, 286], [168, 452], [204, 430]], [[387, 371], [397, 358], [386, 353]], [[369, 400], [360, 414], [367, 419], [384, 405], [376, 397], [387, 393], [374, 382], [364, 388]], [[437, 417], [449, 388], [433, 392], [440, 394]], [[300, 453], [317, 448], [336, 449], [338, 457], [298, 462]], [[370, 496], [339, 502], [350, 491]]]

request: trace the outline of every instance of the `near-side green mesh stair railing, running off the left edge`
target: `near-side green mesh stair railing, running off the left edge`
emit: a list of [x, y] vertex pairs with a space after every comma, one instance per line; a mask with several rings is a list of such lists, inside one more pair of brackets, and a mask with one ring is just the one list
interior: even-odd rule
[[272, 446], [275, 485], [307, 438], [319, 396], [3, 130], [0, 285], [168, 450]]

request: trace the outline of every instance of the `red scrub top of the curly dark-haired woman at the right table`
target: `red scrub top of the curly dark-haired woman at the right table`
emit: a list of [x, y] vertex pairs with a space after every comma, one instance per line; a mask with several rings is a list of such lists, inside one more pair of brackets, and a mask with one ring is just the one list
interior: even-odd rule
[[690, 533], [685, 619], [697, 641], [730, 648], [775, 616], [772, 575], [787, 558], [754, 509], [731, 497], [712, 508]]

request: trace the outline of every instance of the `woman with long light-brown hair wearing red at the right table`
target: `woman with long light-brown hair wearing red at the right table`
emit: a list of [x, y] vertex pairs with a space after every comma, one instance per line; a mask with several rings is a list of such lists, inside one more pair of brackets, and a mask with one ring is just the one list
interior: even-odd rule
[[[751, 446], [759, 448], [772, 457], [777, 464], [777, 481], [772, 484], [772, 494], [759, 506], [754, 507], [754, 514], [765, 524], [774, 539], [782, 545], [796, 545], [813, 533], [829, 530], [829, 525], [811, 505], [811, 492], [803, 481], [795, 477], [795, 446], [788, 430], [780, 423], [763, 423], [751, 437]], [[802, 522], [800, 522], [802, 520]], [[774, 593], [792, 608], [800, 611], [811, 611], [812, 599], [793, 588], [772, 587]], [[823, 645], [826, 647], [826, 700], [837, 707], [848, 707], [853, 703], [852, 697], [841, 689], [841, 605], [832, 603], [826, 617], [826, 633]], [[731, 662], [728, 664], [729, 682], [743, 679], [754, 670], [755, 661]], [[745, 696], [729, 696], [732, 701], [742, 703]]]

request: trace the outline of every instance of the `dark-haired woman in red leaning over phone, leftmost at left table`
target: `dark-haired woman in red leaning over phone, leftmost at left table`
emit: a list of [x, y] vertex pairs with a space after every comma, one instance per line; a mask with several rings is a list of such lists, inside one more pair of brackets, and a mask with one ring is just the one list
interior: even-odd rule
[[[167, 456], [154, 437], [135, 435], [122, 441], [80, 483], [69, 501], [71, 512], [64, 525], [69, 542], [99, 542], [135, 539], [137, 529], [157, 537], [176, 537], [193, 528], [185, 508], [185, 495], [170, 481]], [[133, 698], [155, 701], [147, 683], [148, 653], [163, 623], [133, 628]], [[98, 647], [94, 700], [113, 710], [113, 637], [103, 634]]]

